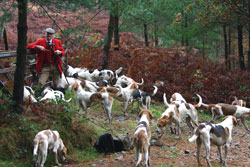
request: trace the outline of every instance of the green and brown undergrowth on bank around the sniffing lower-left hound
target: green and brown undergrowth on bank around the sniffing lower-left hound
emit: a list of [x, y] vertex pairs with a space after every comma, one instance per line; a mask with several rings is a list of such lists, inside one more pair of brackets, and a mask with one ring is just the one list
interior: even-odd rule
[[[68, 148], [69, 158], [76, 154], [76, 150], [83, 150], [83, 155], [91, 152], [89, 150], [102, 130], [79, 115], [79, 105], [71, 93], [67, 92], [69, 95], [66, 95], [66, 98], [73, 97], [71, 103], [28, 105], [22, 114], [11, 110], [13, 104], [8, 102], [11, 101], [9, 97], [1, 97], [1, 108], [9, 110], [1, 110], [5, 121], [2, 120], [0, 124], [0, 166], [32, 166], [33, 139], [45, 129], [59, 132]], [[81, 156], [79, 152], [77, 154]], [[97, 152], [93, 149], [92, 152], [87, 156], [89, 159], [96, 157]], [[54, 157], [49, 153], [45, 166], [53, 164]]]

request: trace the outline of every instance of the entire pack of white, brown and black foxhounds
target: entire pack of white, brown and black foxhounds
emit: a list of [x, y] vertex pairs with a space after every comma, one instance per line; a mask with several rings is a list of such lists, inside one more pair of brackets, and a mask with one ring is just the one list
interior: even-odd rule
[[[112, 70], [88, 70], [86, 68], [73, 68], [68, 65], [67, 76], [62, 75], [59, 90], [69, 89], [75, 93], [76, 99], [83, 111], [95, 104], [101, 104], [104, 112], [107, 114], [109, 124], [112, 124], [112, 105], [113, 99], [117, 99], [124, 103], [123, 113], [127, 112], [128, 104], [138, 102], [139, 118], [133, 134], [133, 145], [135, 149], [135, 166], [139, 166], [143, 159], [145, 166], [150, 165], [150, 145], [151, 145], [151, 126], [153, 114], [150, 111], [150, 103], [152, 97], [157, 93], [159, 85], [152, 85], [153, 92], [145, 92], [140, 89], [144, 84], [143, 78], [141, 82], [136, 82], [132, 78], [125, 75], [119, 76], [122, 68], [115, 71]], [[53, 90], [46, 87], [42, 92], [42, 97], [37, 100], [31, 87], [24, 87], [24, 100], [29, 99], [32, 103], [54, 101], [56, 104], [59, 100], [69, 102], [70, 99], [64, 98], [63, 91]], [[230, 143], [232, 141], [232, 130], [239, 121], [242, 122], [245, 129], [250, 132], [246, 118], [250, 116], [250, 108], [246, 107], [244, 100], [235, 97], [232, 104], [218, 103], [205, 104], [199, 94], [197, 104], [186, 102], [180, 93], [174, 93], [168, 102], [166, 94], [163, 95], [163, 102], [166, 110], [161, 117], [157, 119], [156, 130], [161, 138], [164, 132], [170, 127], [171, 131], [175, 131], [176, 135], [181, 139], [181, 126], [187, 125], [190, 129], [189, 142], [196, 142], [197, 147], [197, 163], [200, 164], [200, 148], [203, 144], [206, 150], [206, 162], [208, 166], [212, 166], [209, 161], [211, 143], [218, 147], [220, 162], [227, 164], [227, 154]], [[142, 108], [140, 110], [140, 107]], [[212, 114], [212, 120], [199, 123], [198, 108], [206, 110]], [[133, 109], [133, 107], [132, 107]], [[215, 123], [219, 118], [223, 117], [223, 121]], [[186, 124], [184, 124], [186, 123]], [[222, 156], [222, 146], [225, 146], [225, 155]], [[57, 131], [43, 130], [34, 138], [33, 161], [34, 166], [43, 167], [46, 161], [48, 150], [52, 150], [55, 156], [55, 163], [59, 165], [58, 155], [65, 160], [67, 148], [63, 144], [63, 140]]]

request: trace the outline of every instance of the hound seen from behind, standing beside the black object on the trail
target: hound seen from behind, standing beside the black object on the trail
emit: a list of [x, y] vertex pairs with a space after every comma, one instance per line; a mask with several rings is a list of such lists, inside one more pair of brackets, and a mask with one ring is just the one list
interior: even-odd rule
[[152, 120], [153, 115], [150, 110], [142, 110], [139, 113], [140, 120], [135, 128], [134, 133], [134, 148], [136, 155], [136, 166], [138, 166], [142, 160], [142, 154], [144, 153], [145, 165], [150, 165], [150, 140], [151, 131], [149, 127], [149, 121]]

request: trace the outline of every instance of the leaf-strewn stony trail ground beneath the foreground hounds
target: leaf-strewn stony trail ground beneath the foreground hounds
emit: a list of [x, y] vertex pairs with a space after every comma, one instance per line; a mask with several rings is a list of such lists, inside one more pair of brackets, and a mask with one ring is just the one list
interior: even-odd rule
[[[100, 113], [90, 112], [88, 117], [95, 121], [96, 124], [104, 125], [105, 115]], [[125, 120], [120, 121], [122, 114], [113, 115], [113, 134], [122, 133], [123, 130], [129, 130], [132, 135], [134, 128], [137, 124], [136, 114], [131, 113], [125, 117]], [[100, 118], [97, 120], [97, 118]], [[200, 122], [203, 120], [200, 119]], [[133, 127], [134, 126], [134, 127]], [[151, 121], [151, 132], [152, 138], [157, 138], [158, 134], [155, 132], [156, 119]], [[109, 127], [106, 127], [107, 129]], [[189, 129], [186, 124], [182, 125], [182, 138], [178, 139], [176, 135], [170, 133], [170, 130], [164, 133], [162, 138], [159, 140], [162, 146], [151, 146], [150, 160], [151, 166], [155, 167], [178, 167], [197, 166], [196, 161], [196, 144], [189, 143]], [[224, 156], [224, 147], [222, 149]], [[205, 161], [205, 150], [204, 146], [201, 149], [201, 164], [207, 166]], [[211, 146], [210, 161], [214, 167], [223, 166], [219, 163], [218, 149], [215, 145]], [[141, 166], [144, 166], [144, 157]], [[122, 151], [119, 153], [104, 155], [100, 154], [96, 160], [89, 162], [79, 162], [75, 164], [66, 165], [67, 167], [134, 167], [136, 164], [134, 150]], [[242, 125], [237, 126], [233, 129], [233, 140], [231, 147], [228, 152], [227, 158], [228, 167], [249, 167], [250, 166], [250, 133], [247, 133]]]

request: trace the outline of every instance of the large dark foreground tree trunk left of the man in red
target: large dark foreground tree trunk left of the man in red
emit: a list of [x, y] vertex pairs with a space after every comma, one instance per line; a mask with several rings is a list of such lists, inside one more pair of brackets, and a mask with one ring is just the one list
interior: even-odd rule
[[16, 70], [14, 76], [13, 100], [16, 102], [16, 112], [23, 111], [23, 89], [26, 70], [26, 45], [27, 45], [27, 0], [18, 2], [18, 24], [17, 24], [17, 56]]

